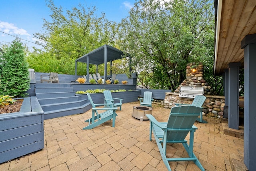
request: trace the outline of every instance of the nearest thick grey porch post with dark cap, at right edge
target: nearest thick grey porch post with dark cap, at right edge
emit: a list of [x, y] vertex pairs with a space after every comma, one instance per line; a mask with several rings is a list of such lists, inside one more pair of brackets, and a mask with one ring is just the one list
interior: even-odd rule
[[244, 48], [244, 164], [256, 168], [256, 34], [247, 35], [241, 42]]

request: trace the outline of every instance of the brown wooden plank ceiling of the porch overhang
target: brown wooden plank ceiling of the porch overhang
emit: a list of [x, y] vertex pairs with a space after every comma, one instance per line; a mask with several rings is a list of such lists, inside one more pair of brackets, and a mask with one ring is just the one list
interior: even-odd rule
[[228, 64], [241, 62], [244, 66], [244, 49], [241, 41], [256, 33], [255, 0], [215, 0], [218, 2], [214, 73], [220, 75]]

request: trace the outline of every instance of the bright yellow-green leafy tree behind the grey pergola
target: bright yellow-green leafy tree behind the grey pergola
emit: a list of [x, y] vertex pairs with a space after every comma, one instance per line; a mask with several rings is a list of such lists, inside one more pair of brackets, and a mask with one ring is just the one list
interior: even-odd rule
[[[116, 22], [108, 21], [104, 13], [97, 17], [96, 7], [85, 8], [86, 5], [79, 4], [78, 8], [73, 7], [64, 12], [61, 6], [58, 8], [54, 5], [53, 0], [47, 2], [52, 20], [44, 19], [43, 28], [46, 31], [35, 34], [40, 40], [37, 43], [45, 47], [46, 53], [37, 51], [31, 55], [30, 64], [37, 65], [34, 68], [40, 68], [35, 59], [44, 56], [44, 62], [49, 66], [48, 72], [54, 68], [54, 71], [58, 70], [62, 74], [74, 74], [77, 58], [104, 44], [114, 46], [119, 26]], [[79, 64], [79, 67], [82, 68], [82, 65]], [[95, 67], [91, 66], [90, 69]], [[35, 71], [40, 72], [37, 69]], [[85, 75], [86, 69], [78, 72]]]

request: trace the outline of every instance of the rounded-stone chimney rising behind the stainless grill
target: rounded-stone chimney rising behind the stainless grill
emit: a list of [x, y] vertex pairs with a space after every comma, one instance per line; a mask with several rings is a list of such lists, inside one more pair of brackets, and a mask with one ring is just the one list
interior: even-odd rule
[[202, 63], [188, 63], [186, 66], [186, 79], [180, 84], [180, 86], [175, 90], [175, 92], [178, 93], [180, 91], [180, 87], [182, 86], [204, 86], [204, 94], [214, 95], [214, 90], [203, 78], [203, 71], [204, 66]]

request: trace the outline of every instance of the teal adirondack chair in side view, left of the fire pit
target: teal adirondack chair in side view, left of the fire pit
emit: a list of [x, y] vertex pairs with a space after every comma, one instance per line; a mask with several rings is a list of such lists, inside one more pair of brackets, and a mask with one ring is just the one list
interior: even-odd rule
[[[88, 126], [84, 127], [83, 129], [92, 129], [108, 120], [111, 120], [111, 119], [112, 119], [112, 127], [115, 127], [117, 108], [112, 107], [112, 103], [108, 104], [110, 106], [108, 108], [96, 108], [96, 106], [101, 106], [104, 104], [94, 104], [89, 93], [87, 93], [87, 96], [92, 104], [92, 118], [84, 121], [84, 122], [88, 122]], [[102, 113], [98, 113], [98, 110], [105, 110], [105, 111]], [[95, 116], [95, 113], [96, 113], [96, 116]]]

